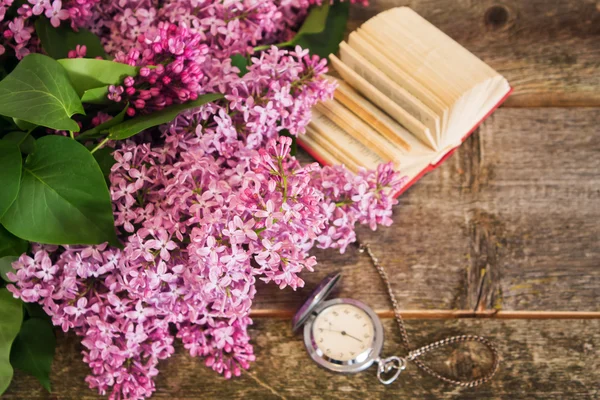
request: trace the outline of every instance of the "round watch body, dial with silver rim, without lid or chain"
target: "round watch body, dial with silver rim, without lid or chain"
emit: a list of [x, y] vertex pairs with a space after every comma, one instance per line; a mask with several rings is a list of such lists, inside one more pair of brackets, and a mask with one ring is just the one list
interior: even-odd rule
[[328, 300], [312, 311], [304, 325], [311, 358], [337, 372], [362, 371], [379, 357], [383, 327], [367, 305], [352, 299]]

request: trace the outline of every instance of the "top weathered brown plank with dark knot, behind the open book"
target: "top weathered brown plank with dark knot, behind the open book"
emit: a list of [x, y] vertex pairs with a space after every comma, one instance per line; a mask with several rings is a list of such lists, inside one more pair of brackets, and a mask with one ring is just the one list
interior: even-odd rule
[[600, 105], [596, 0], [377, 0], [352, 8], [350, 28], [403, 5], [503, 74], [508, 106]]

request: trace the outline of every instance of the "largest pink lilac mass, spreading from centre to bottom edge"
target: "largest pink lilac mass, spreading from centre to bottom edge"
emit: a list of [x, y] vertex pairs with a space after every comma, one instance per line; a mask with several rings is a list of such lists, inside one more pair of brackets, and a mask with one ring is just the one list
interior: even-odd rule
[[254, 360], [256, 278], [302, 287], [298, 273], [316, 264], [310, 248], [343, 250], [354, 223], [391, 223], [389, 191], [402, 183], [389, 165], [356, 176], [303, 167], [286, 137], [226, 158], [207, 152], [195, 131], [165, 136], [114, 153], [123, 250], [36, 245], [9, 275], [15, 296], [82, 336], [87, 382], [111, 398], [150, 396], [175, 337], [215, 371], [239, 375]]

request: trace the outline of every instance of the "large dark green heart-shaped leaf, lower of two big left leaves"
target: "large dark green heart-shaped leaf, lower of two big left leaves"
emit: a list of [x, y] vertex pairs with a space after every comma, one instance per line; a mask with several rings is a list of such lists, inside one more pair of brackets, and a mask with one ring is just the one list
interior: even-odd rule
[[64, 136], [44, 136], [25, 162], [4, 227], [31, 242], [119, 246], [110, 195], [94, 156]]

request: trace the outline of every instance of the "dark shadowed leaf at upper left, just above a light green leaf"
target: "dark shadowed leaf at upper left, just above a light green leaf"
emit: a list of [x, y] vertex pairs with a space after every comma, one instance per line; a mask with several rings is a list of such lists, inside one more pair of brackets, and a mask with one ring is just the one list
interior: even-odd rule
[[55, 60], [67, 58], [69, 51], [75, 50], [78, 44], [87, 47], [86, 57], [106, 58], [100, 38], [87, 29], [79, 28], [75, 32], [68, 24], [55, 28], [47, 18], [41, 17], [35, 21], [35, 33], [42, 42], [42, 48]]

